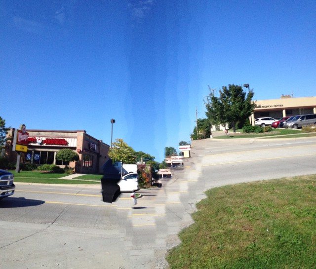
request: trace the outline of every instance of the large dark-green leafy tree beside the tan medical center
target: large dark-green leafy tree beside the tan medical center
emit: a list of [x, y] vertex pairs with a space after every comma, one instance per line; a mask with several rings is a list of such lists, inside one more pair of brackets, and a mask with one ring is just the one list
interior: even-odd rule
[[255, 108], [255, 103], [251, 101], [253, 95], [252, 90], [246, 94], [241, 86], [235, 84], [223, 86], [222, 90], [219, 90], [219, 97], [210, 91], [210, 104], [206, 105], [206, 116], [213, 125], [225, 126], [226, 123], [231, 123], [236, 132], [237, 121], [244, 122]]

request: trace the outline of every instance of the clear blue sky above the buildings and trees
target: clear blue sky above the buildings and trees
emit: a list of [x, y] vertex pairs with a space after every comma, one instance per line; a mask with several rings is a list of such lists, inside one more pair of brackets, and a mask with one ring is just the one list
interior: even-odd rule
[[205, 117], [208, 85], [316, 96], [316, 2], [1, 0], [0, 116], [86, 130], [162, 161]]

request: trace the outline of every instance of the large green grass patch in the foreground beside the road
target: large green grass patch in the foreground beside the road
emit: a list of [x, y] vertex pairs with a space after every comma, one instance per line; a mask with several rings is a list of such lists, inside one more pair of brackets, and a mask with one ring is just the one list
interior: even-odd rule
[[316, 175], [206, 192], [170, 269], [316, 268]]

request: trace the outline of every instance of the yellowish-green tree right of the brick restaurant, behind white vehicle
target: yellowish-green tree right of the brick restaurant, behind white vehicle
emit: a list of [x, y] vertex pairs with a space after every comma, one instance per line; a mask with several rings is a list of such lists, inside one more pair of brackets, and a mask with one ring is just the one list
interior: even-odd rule
[[109, 150], [109, 157], [113, 162], [122, 161], [123, 163], [136, 164], [135, 151], [123, 139], [116, 139], [113, 147]]

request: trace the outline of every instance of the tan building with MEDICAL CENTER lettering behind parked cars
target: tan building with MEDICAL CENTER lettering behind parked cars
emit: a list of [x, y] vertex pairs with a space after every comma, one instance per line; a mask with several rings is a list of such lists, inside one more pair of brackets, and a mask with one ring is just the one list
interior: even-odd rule
[[298, 97], [282, 95], [280, 99], [257, 100], [254, 113], [251, 115], [251, 123], [255, 118], [295, 116], [304, 114], [316, 114], [316, 97]]

